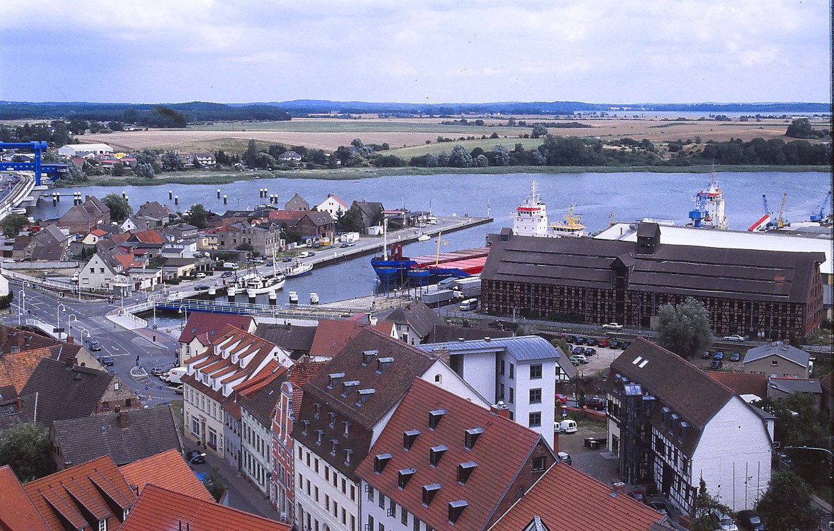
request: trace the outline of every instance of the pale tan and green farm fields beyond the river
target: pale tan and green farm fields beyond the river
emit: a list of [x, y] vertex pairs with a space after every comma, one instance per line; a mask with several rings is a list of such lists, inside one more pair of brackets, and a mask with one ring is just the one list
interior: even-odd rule
[[[435, 146], [438, 136], [445, 136], [457, 141], [460, 136], [490, 136], [498, 133], [498, 141], [467, 141], [472, 147], [487, 146], [491, 149], [495, 143], [503, 143], [508, 148], [519, 141], [518, 136], [530, 132], [527, 127], [506, 127], [505, 120], [484, 119], [484, 126], [441, 125], [440, 122], [450, 118], [296, 118], [289, 122], [216, 122], [197, 124], [188, 129], [157, 129], [150, 131], [113, 132], [79, 137], [84, 142], [106, 142], [125, 150], [137, 150], [145, 147], [159, 149], [178, 149], [180, 151], [210, 151], [224, 149], [243, 151], [250, 138], [269, 143], [284, 145], [303, 145], [324, 150], [334, 150], [346, 146], [354, 138], [361, 138], [366, 144], [387, 142], [392, 153], [399, 156], [413, 156], [427, 152], [450, 150], [452, 143]], [[475, 117], [467, 117], [471, 121]], [[555, 122], [553, 117], [530, 117], [529, 122]], [[573, 121], [571, 119], [570, 121]], [[630, 136], [636, 139], [648, 138], [653, 142], [666, 142], [677, 139], [694, 139], [701, 136], [701, 141], [726, 141], [741, 138], [748, 141], [756, 136], [765, 139], [786, 138], [785, 131], [790, 119], [763, 119], [761, 122], [715, 122], [690, 120], [673, 122], [659, 117], [641, 118], [576, 118], [576, 122], [592, 127], [550, 128], [550, 133], [560, 136], [599, 136], [602, 138], [622, 138]], [[827, 120], [814, 119], [814, 127], [826, 127]], [[499, 125], [500, 124], [500, 125]], [[490, 127], [491, 126], [491, 127]], [[506, 138], [505, 138], [506, 136]], [[430, 144], [426, 144], [430, 141]], [[469, 146], [469, 143], [466, 145]], [[522, 141], [525, 148], [527, 142]], [[401, 152], [394, 151], [402, 150]], [[406, 149], [403, 149], [406, 148]], [[419, 148], [419, 149], [418, 149]], [[413, 154], [412, 151], [414, 151]]]

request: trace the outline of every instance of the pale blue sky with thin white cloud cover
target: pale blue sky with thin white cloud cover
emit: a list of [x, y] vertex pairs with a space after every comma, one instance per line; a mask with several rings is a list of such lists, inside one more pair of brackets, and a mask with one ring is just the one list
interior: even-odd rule
[[828, 0], [2, 0], [0, 100], [828, 102]]

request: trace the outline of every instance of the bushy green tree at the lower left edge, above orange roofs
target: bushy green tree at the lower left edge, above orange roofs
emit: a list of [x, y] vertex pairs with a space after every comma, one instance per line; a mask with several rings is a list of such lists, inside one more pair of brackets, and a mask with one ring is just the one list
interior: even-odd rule
[[49, 451], [49, 431], [41, 424], [18, 424], [0, 436], [0, 466], [11, 466], [23, 483], [52, 474]]

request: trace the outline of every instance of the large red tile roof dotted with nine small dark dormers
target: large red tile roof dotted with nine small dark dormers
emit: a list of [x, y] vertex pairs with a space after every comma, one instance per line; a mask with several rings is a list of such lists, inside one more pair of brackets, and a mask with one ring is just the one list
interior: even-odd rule
[[[445, 411], [442, 419], [435, 429], [430, 429], [430, 412], [441, 409]], [[467, 429], [483, 430], [471, 449], [464, 444]], [[404, 432], [409, 430], [418, 430], [420, 434], [406, 450]], [[430, 449], [441, 445], [448, 449], [439, 464], [432, 466]], [[539, 474], [524, 470], [525, 465], [532, 466], [530, 456], [537, 449], [546, 456]], [[379, 454], [392, 456], [381, 474], [374, 472], [374, 459]], [[458, 465], [471, 462], [477, 466], [461, 484]], [[455, 527], [474, 531], [485, 529], [497, 517], [496, 511], [505, 496], [515, 497], [513, 487], [518, 477], [527, 479], [532, 474], [537, 478], [554, 462], [552, 451], [532, 429], [416, 378], [356, 474], [434, 529], [450, 529], [449, 504], [463, 499], [469, 505]], [[414, 469], [415, 473], [405, 488], [399, 489], [399, 470], [404, 469]], [[423, 486], [430, 484], [441, 487], [426, 506]]]

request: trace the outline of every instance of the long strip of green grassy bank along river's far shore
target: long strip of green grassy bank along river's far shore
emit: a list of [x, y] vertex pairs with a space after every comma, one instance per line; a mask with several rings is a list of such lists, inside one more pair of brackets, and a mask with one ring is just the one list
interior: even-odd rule
[[[716, 166], [716, 172], [761, 172], [761, 171], [825, 171], [831, 166]], [[503, 175], [507, 173], [627, 173], [631, 171], [651, 173], [709, 173], [712, 166], [490, 166], [485, 168], [344, 168], [335, 170], [290, 170], [290, 171], [180, 171], [162, 173], [153, 179], [140, 177], [93, 176], [88, 182], [62, 186], [156, 186], [166, 184], [221, 185], [234, 181], [255, 179], [319, 179], [322, 181], [357, 181], [384, 176], [420, 175]]]

